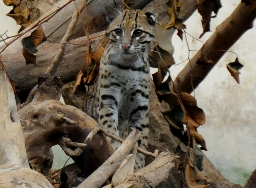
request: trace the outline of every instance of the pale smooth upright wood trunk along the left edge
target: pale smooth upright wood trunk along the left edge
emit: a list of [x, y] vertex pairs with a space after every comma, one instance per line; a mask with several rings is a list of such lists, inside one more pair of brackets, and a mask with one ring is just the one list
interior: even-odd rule
[[11, 84], [0, 60], [0, 187], [53, 188], [29, 168], [22, 128]]

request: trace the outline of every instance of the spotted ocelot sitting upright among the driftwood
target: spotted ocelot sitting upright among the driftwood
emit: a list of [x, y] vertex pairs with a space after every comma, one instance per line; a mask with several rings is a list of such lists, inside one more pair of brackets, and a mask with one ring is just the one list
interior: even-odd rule
[[[149, 133], [151, 76], [148, 50], [154, 39], [156, 17], [141, 10], [106, 7], [109, 37], [100, 62], [92, 117], [109, 133], [126, 138], [130, 127], [143, 133], [139, 147], [146, 149]], [[120, 145], [111, 140], [114, 149]], [[145, 165], [138, 153], [135, 170]]]

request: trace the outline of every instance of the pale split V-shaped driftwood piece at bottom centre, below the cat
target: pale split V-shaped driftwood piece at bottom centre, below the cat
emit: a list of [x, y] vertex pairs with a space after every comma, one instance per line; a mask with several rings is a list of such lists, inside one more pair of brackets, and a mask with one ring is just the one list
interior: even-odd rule
[[168, 174], [175, 169], [176, 155], [169, 152], [162, 152], [148, 166], [133, 173], [135, 156], [130, 154], [126, 157], [117, 172], [112, 178], [108, 188], [113, 185], [116, 188], [148, 188], [155, 187], [168, 178]]

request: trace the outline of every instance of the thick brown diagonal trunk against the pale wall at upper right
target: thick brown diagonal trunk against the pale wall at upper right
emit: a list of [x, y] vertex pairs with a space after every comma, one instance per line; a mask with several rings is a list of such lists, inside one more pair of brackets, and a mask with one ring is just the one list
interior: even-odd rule
[[[241, 2], [180, 72], [170, 89], [191, 93], [218, 63], [226, 50], [253, 27], [255, 17], [255, 9]], [[205, 58], [211, 61], [202, 61]]]

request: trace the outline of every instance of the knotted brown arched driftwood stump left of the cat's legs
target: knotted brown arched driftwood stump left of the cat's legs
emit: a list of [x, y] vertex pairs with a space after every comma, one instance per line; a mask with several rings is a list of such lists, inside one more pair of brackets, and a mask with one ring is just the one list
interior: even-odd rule
[[100, 133], [86, 139], [98, 124], [81, 110], [58, 101], [61, 86], [53, 76], [40, 78], [33, 101], [18, 112], [28, 159], [49, 156], [50, 148], [59, 144], [86, 177], [114, 151]]

